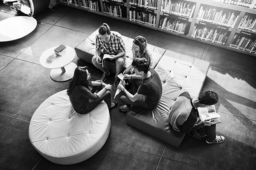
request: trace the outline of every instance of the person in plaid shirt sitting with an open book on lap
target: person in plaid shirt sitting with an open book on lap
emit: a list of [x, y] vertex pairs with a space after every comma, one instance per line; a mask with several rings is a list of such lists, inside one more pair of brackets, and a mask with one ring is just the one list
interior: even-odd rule
[[121, 34], [118, 32], [111, 32], [108, 24], [103, 23], [99, 27], [99, 34], [96, 35], [96, 55], [93, 56], [92, 62], [97, 68], [102, 70], [101, 80], [104, 82], [110, 71], [105, 67], [102, 67], [102, 58], [104, 54], [111, 55], [110, 60], [114, 60], [116, 63], [116, 76], [114, 86], [116, 87], [120, 79], [118, 74], [122, 73], [125, 63], [125, 43], [122, 40]]

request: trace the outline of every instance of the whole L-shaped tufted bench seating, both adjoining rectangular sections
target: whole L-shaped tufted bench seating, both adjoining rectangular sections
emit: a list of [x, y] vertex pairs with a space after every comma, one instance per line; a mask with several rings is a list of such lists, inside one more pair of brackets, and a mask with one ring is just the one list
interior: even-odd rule
[[[80, 59], [92, 63], [95, 55], [95, 37], [99, 34], [94, 31], [87, 39], [76, 46], [76, 54]], [[146, 37], [145, 37], [146, 38]], [[131, 46], [133, 39], [122, 36], [126, 47], [125, 68], [132, 62]], [[152, 52], [153, 68], [160, 76], [163, 85], [163, 94], [157, 108], [143, 110], [131, 106], [126, 113], [126, 123], [145, 133], [179, 147], [185, 134], [173, 130], [168, 122], [168, 113], [177, 97], [187, 91], [192, 98], [197, 98], [204, 85], [210, 63], [174, 51], [148, 44]], [[115, 64], [106, 62], [111, 66], [110, 71], [116, 73]]]

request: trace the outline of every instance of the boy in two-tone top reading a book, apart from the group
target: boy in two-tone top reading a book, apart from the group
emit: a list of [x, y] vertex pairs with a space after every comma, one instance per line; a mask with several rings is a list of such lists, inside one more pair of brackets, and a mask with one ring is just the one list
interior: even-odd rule
[[169, 111], [169, 123], [172, 128], [180, 133], [191, 133], [199, 128], [206, 128], [208, 144], [221, 143], [225, 140], [224, 136], [216, 134], [216, 124], [213, 121], [199, 118], [199, 107], [208, 107], [218, 102], [218, 94], [214, 91], [204, 91], [198, 99], [192, 99], [188, 92], [183, 92], [178, 96]]

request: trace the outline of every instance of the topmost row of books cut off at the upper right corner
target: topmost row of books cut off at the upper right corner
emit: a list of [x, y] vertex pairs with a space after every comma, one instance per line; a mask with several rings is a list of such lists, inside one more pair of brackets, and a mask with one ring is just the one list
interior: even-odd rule
[[210, 0], [217, 3], [225, 3], [247, 8], [255, 8], [256, 0]]

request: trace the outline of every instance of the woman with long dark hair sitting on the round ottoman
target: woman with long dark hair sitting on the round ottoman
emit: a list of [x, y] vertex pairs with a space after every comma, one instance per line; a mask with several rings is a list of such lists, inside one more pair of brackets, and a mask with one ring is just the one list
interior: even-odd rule
[[74, 76], [70, 80], [67, 95], [77, 113], [85, 114], [92, 111], [104, 100], [109, 109], [115, 108], [118, 103], [111, 103], [112, 85], [102, 81], [89, 81], [90, 73], [87, 67], [77, 67]]

